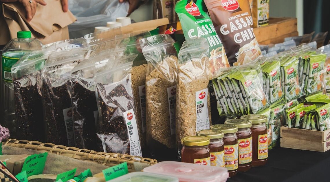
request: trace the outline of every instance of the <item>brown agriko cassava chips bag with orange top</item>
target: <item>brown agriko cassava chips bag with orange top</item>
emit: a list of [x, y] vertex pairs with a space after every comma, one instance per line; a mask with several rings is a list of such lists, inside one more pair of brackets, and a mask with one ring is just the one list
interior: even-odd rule
[[252, 62], [261, 54], [247, 0], [208, 0], [205, 4], [230, 66]]

